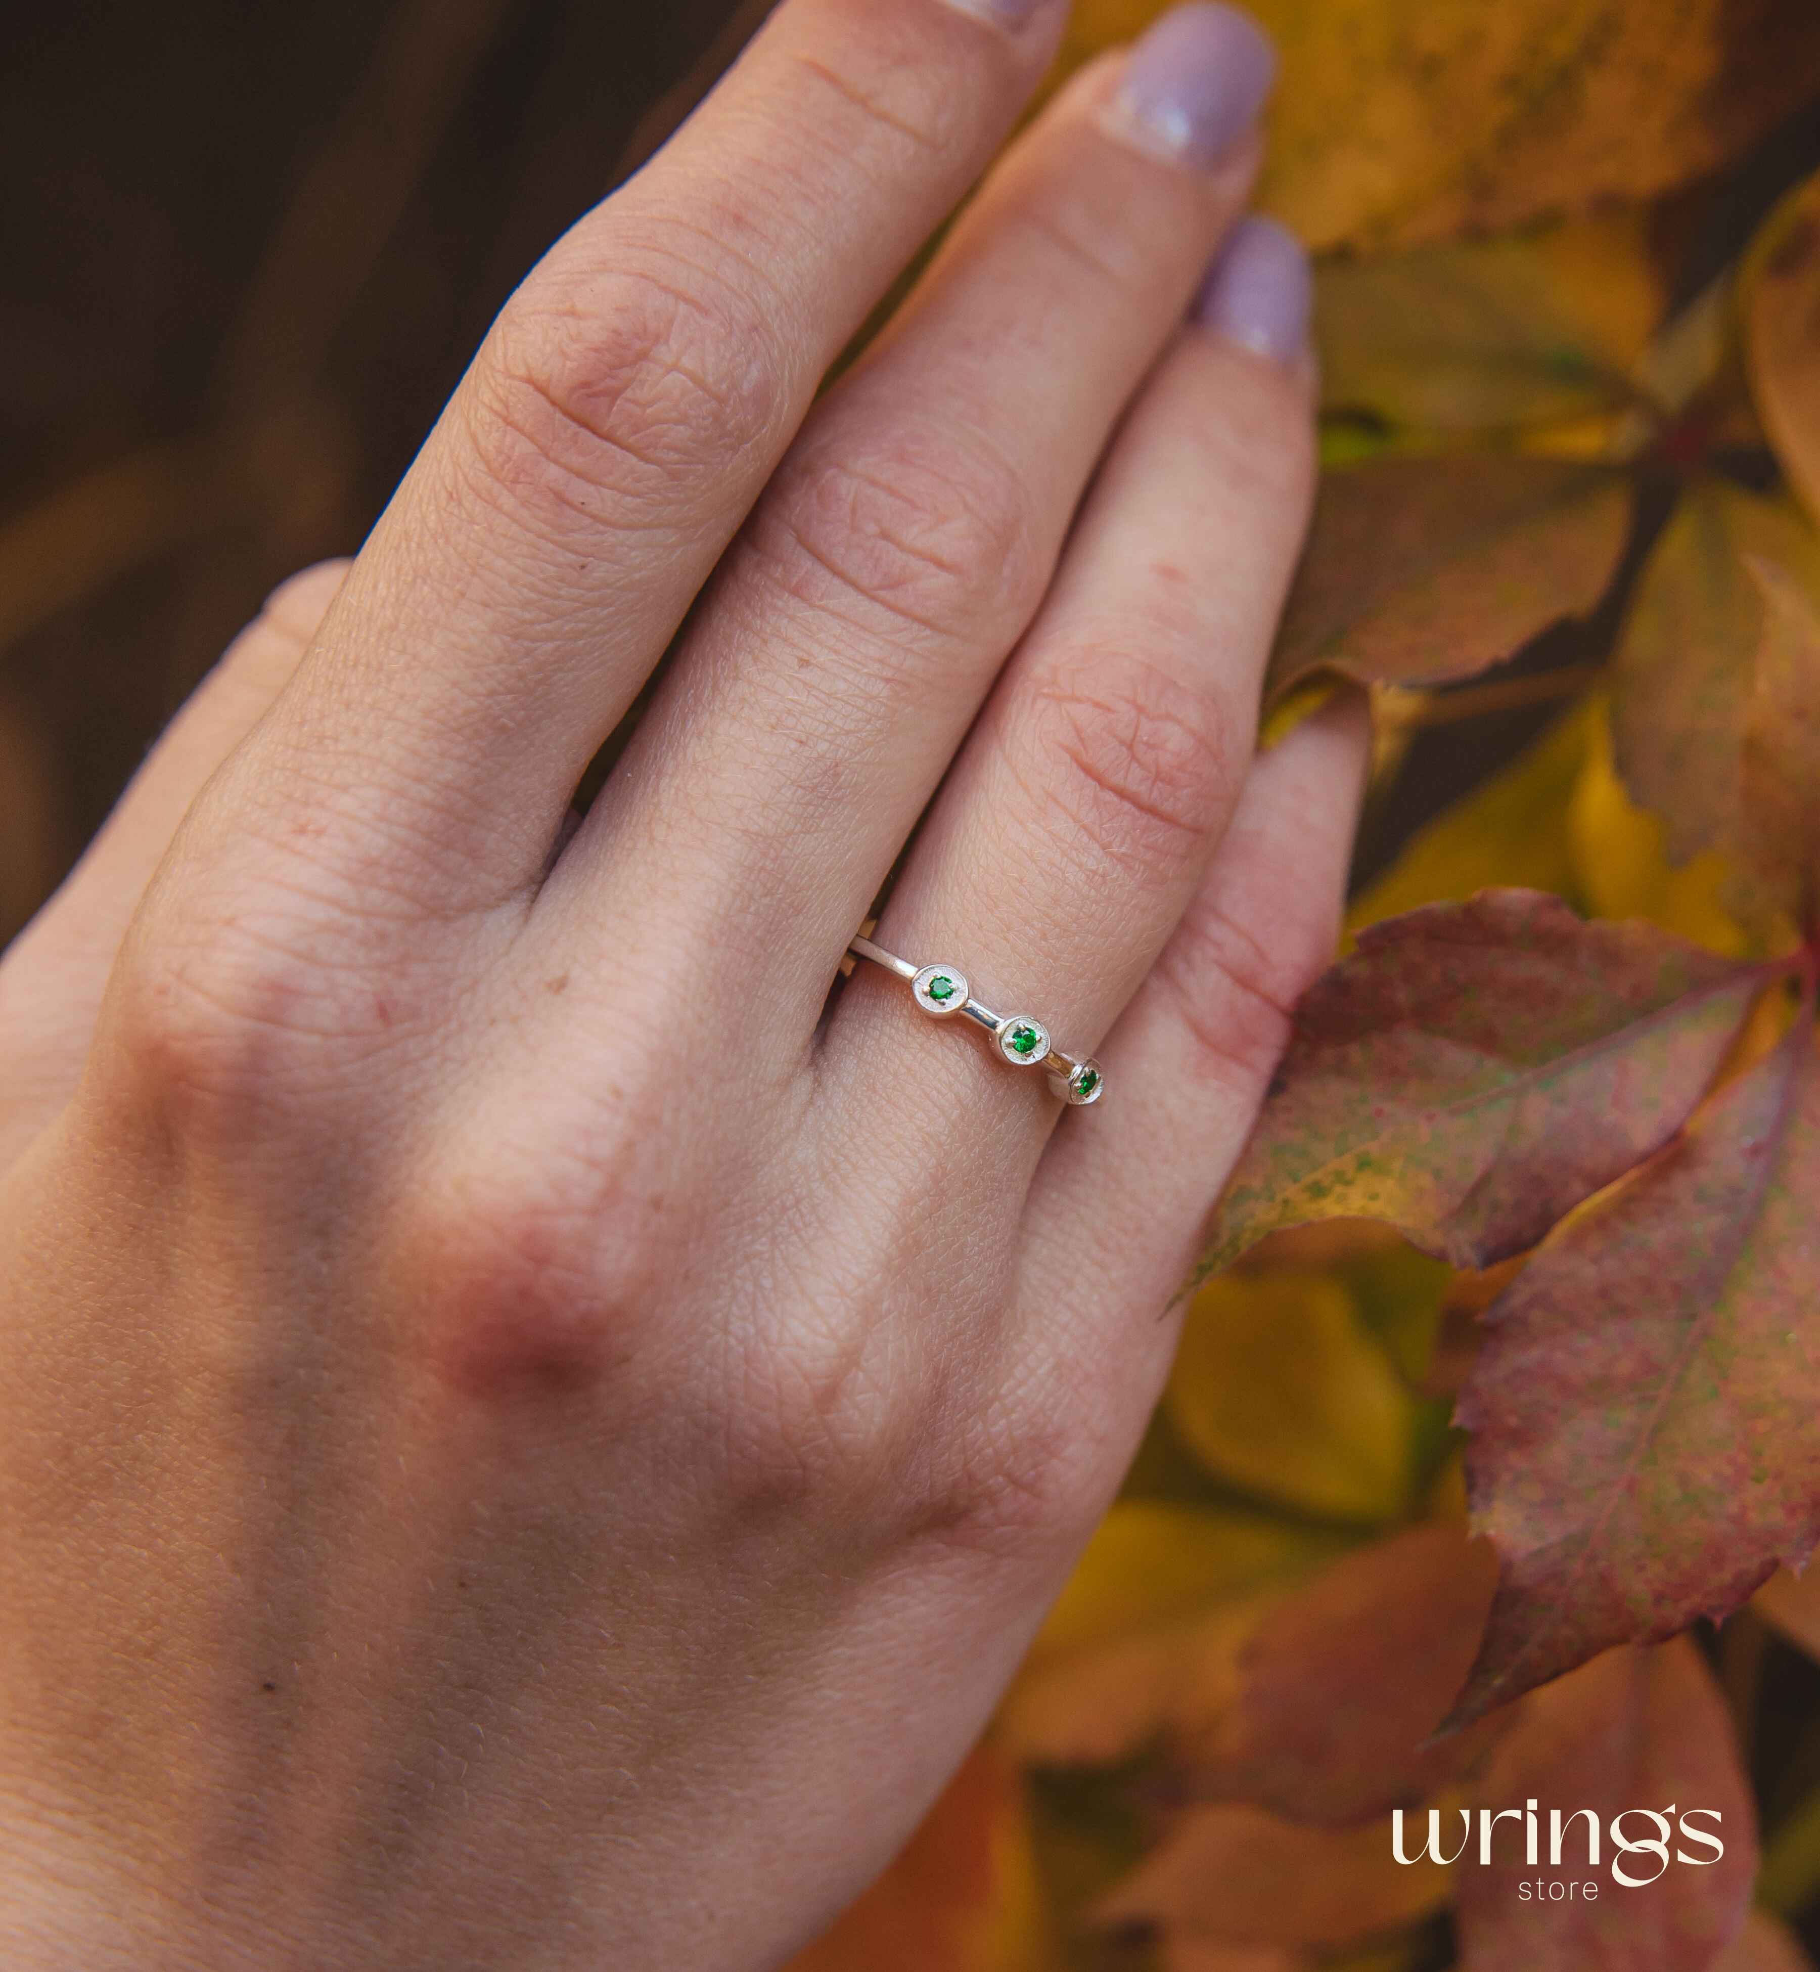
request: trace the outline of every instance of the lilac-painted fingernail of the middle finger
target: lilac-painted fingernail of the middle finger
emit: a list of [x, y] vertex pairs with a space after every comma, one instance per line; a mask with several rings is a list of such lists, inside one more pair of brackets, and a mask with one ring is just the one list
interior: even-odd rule
[[1276, 49], [1250, 14], [1195, 0], [1132, 49], [1118, 112], [1148, 150], [1219, 164], [1256, 124], [1274, 81]]

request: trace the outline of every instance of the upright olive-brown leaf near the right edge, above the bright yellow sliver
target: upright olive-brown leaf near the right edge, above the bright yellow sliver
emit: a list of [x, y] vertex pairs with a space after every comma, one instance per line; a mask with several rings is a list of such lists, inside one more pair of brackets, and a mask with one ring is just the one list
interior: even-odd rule
[[1747, 556], [1820, 594], [1820, 534], [1790, 501], [1698, 481], [1650, 552], [1613, 657], [1617, 769], [1662, 816], [1676, 864], [1739, 838], [1739, 749], [1765, 627]]

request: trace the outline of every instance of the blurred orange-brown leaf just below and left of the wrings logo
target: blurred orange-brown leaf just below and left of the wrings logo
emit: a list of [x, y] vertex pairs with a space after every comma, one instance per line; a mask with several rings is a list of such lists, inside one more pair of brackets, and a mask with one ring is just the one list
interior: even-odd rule
[[1242, 1804], [1189, 1808], [1096, 1907], [1132, 1935], [1228, 1944], [1343, 1944], [1412, 1923], [1447, 1901], [1428, 1860], [1404, 1867], [1390, 1822], [1305, 1828]]

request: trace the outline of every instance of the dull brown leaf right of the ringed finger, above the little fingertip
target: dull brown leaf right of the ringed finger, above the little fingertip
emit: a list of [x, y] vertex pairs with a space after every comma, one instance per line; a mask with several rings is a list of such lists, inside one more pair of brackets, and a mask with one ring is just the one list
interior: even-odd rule
[[1365, 682], [1471, 676], [1591, 609], [1629, 525], [1629, 479], [1601, 465], [1465, 454], [1329, 471], [1268, 690], [1323, 667]]

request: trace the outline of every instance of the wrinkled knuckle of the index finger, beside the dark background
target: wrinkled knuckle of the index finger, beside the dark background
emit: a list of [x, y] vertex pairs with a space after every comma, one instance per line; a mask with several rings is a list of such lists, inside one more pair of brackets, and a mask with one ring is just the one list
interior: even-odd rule
[[761, 308], [728, 282], [546, 272], [505, 310], [461, 394], [489, 485], [597, 517], [603, 495], [686, 493], [779, 416]]

